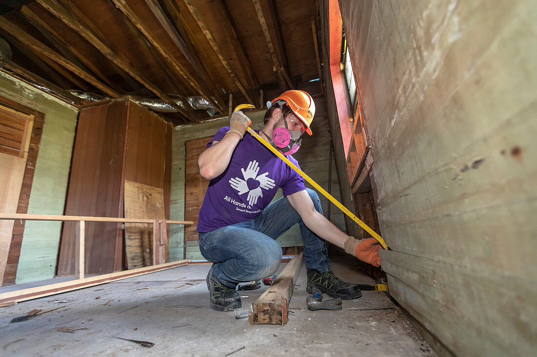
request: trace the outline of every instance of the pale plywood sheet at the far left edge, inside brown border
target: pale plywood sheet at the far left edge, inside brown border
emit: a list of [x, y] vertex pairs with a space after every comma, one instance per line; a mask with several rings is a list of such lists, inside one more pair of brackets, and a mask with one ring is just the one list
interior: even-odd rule
[[[0, 153], [0, 213], [16, 213], [26, 158]], [[0, 285], [8, 261], [13, 221], [0, 220]]]

